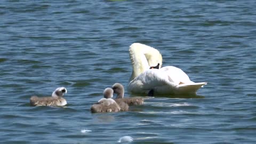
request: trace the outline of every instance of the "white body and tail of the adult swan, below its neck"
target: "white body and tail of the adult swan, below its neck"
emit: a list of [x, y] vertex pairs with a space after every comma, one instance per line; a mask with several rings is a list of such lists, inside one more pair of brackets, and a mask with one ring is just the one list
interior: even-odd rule
[[128, 90], [146, 94], [150, 90], [154, 90], [155, 94], [196, 93], [205, 84], [194, 83], [181, 69], [168, 66], [145, 71], [129, 83]]

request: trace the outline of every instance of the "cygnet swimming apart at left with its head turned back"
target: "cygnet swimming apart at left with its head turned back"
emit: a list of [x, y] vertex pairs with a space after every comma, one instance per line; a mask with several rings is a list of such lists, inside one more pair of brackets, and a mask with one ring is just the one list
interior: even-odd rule
[[52, 97], [39, 98], [34, 95], [30, 98], [30, 106], [65, 106], [67, 105], [67, 101], [63, 97], [67, 92], [68, 91], [65, 87], [58, 87], [55, 91], [53, 91]]

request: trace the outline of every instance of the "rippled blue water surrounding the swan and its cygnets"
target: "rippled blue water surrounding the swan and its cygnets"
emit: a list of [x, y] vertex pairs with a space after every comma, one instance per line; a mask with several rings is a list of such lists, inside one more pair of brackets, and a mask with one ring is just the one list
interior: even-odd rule
[[[0, 143], [255, 143], [254, 1], [1, 1]], [[145, 100], [91, 114], [116, 82], [129, 46], [157, 48], [195, 82], [196, 97]], [[29, 107], [68, 89], [65, 108]], [[126, 97], [133, 95], [125, 91]]]

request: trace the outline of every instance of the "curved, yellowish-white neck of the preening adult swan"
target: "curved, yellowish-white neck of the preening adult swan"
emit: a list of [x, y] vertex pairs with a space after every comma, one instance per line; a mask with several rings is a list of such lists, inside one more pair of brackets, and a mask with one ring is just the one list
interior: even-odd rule
[[133, 68], [130, 81], [150, 67], [156, 66], [158, 63], [159, 68], [162, 67], [162, 55], [153, 47], [140, 43], [133, 43], [130, 46], [129, 51]]

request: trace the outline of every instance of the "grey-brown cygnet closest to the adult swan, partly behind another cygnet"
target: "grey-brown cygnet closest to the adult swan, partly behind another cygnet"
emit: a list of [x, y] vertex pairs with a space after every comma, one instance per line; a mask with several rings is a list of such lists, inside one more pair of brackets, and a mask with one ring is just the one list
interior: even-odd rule
[[114, 93], [116, 93], [116, 99], [114, 99], [117, 103], [127, 103], [129, 106], [133, 105], [143, 105], [144, 99], [140, 97], [133, 97], [133, 98], [124, 98], [124, 86], [120, 83], [115, 83], [112, 86]]

